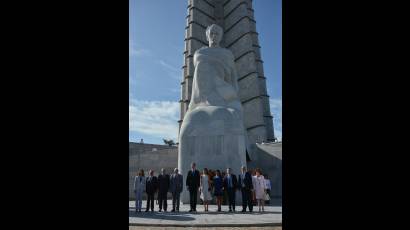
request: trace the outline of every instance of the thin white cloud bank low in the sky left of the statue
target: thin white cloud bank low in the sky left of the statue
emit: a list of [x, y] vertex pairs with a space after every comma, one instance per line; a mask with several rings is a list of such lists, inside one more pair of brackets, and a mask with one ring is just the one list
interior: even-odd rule
[[153, 137], [177, 139], [179, 103], [131, 100], [129, 130]]

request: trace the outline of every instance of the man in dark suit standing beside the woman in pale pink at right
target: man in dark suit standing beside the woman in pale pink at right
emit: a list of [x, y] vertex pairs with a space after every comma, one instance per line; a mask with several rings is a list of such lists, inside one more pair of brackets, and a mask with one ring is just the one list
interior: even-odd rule
[[241, 174], [238, 176], [238, 188], [242, 192], [242, 212], [246, 212], [246, 206], [248, 206], [249, 211], [252, 212], [252, 176], [246, 171], [246, 167], [241, 167]]

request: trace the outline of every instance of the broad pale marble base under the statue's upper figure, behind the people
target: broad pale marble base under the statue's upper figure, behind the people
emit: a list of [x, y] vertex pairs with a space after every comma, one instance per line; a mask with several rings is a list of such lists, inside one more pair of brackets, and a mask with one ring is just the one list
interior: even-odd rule
[[189, 203], [185, 180], [192, 162], [200, 172], [203, 168], [225, 171], [229, 167], [233, 174], [240, 173], [240, 167], [246, 166], [246, 143], [239, 111], [222, 106], [199, 106], [186, 114], [178, 148], [178, 169], [184, 176], [181, 194], [184, 204]]

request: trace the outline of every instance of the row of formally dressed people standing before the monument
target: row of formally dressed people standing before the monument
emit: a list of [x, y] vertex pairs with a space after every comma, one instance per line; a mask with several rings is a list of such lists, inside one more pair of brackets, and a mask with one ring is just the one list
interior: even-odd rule
[[[187, 173], [186, 187], [189, 191], [190, 210], [196, 212], [198, 192], [200, 199], [203, 201], [204, 211], [208, 212], [208, 205], [213, 197], [216, 198], [218, 212], [221, 212], [223, 198], [228, 202], [229, 212], [235, 212], [235, 193], [240, 190], [242, 193], [242, 212], [246, 209], [253, 211], [253, 205], [256, 201], [259, 212], [264, 211], [265, 202], [269, 201], [270, 181], [265, 179], [260, 169], [246, 170], [245, 166], [241, 167], [241, 173], [236, 176], [232, 174], [231, 169], [226, 171], [208, 170], [204, 168], [202, 173], [196, 169], [196, 164], [191, 164], [191, 169]], [[161, 174], [156, 177], [154, 171], [149, 171], [149, 176], [144, 176], [144, 171], [140, 170], [134, 179], [135, 207], [137, 212], [141, 212], [142, 194], [147, 193], [147, 207], [145, 212], [150, 209], [154, 211], [154, 195], [158, 192], [159, 212], [167, 211], [167, 193], [172, 194], [171, 212], [179, 212], [180, 194], [183, 189], [183, 176], [179, 174], [178, 169], [174, 170], [171, 175], [166, 174], [161, 169]]]

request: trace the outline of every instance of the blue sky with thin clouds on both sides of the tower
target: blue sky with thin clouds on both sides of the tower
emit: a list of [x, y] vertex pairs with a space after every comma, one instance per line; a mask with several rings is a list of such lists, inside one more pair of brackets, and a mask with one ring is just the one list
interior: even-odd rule
[[[129, 4], [129, 140], [176, 141], [188, 0]], [[254, 0], [253, 8], [275, 135], [282, 139], [282, 3]]]

